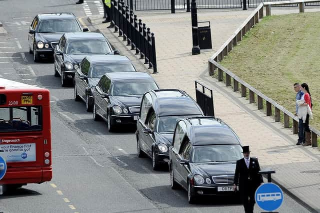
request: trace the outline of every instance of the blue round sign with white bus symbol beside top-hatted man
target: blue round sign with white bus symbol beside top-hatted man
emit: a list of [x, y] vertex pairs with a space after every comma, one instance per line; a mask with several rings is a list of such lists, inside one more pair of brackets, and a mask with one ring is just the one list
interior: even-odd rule
[[283, 192], [275, 184], [266, 183], [260, 185], [255, 191], [255, 203], [266, 212], [278, 209], [283, 202]]

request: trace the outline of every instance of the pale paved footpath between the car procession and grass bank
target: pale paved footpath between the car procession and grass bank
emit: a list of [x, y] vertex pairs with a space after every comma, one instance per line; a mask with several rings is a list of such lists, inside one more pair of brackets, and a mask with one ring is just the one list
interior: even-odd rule
[[[178, 88], [195, 98], [194, 80], [213, 89], [215, 116], [225, 121], [240, 137], [243, 145], [249, 145], [251, 156], [259, 159], [261, 168], [275, 169], [272, 182], [311, 212], [320, 212], [320, 151], [317, 148], [296, 146], [297, 136], [284, 129], [274, 119], [256, 109], [255, 104], [240, 97], [225, 84], [208, 76], [208, 58], [247, 18], [249, 10], [198, 10], [198, 21], [211, 22], [212, 50], [191, 55], [192, 33], [190, 13], [178, 11], [136, 12], [138, 18], [154, 32], [157, 74], [151, 74], [143, 60], [138, 59], [113, 32], [101, 23], [101, 16], [91, 15], [81, 21], [92, 30], [102, 32], [120, 53], [128, 56], [139, 71], [149, 72], [160, 88]], [[306, 8], [319, 11], [319, 8]], [[273, 14], [298, 12], [298, 8], [272, 8]], [[294, 97], [292, 97], [293, 99]]]

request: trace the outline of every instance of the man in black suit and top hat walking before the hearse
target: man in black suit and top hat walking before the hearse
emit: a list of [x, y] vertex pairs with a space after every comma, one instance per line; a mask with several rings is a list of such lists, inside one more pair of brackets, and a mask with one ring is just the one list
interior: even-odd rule
[[258, 174], [260, 171], [258, 159], [250, 158], [249, 146], [243, 146], [242, 153], [244, 158], [236, 161], [233, 190], [236, 191], [238, 186], [244, 212], [253, 213], [254, 194], [259, 185], [263, 183], [263, 179]]

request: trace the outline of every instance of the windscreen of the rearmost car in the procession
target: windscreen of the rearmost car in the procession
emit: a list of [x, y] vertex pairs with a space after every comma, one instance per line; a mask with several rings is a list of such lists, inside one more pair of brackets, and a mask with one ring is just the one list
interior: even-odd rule
[[41, 20], [38, 32], [80, 32], [81, 28], [75, 19]]

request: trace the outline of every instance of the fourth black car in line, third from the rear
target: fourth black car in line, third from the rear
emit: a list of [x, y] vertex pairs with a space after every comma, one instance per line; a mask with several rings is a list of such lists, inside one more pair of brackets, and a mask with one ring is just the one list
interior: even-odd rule
[[74, 75], [74, 100], [83, 100], [86, 111], [93, 109], [94, 86], [103, 74], [110, 72], [136, 72], [136, 69], [123, 55], [90, 55], [79, 64]]

